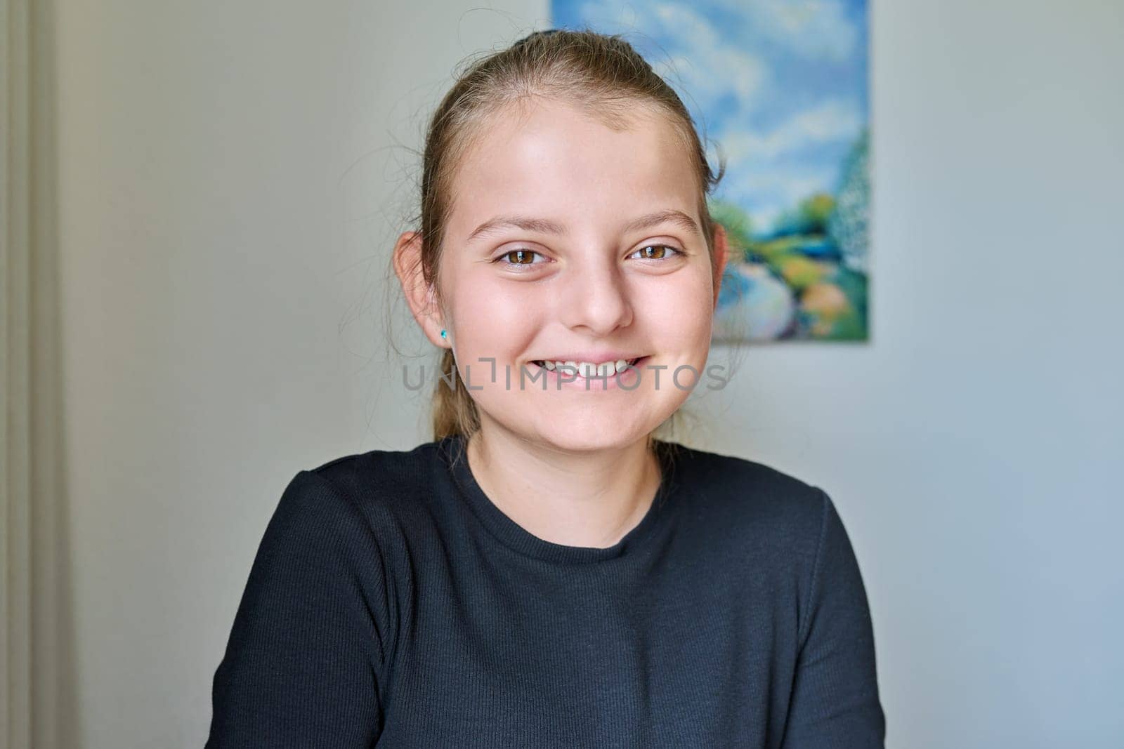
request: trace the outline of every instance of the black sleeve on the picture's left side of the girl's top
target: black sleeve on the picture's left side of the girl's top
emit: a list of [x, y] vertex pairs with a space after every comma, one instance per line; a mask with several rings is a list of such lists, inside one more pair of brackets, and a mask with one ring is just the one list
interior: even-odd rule
[[299, 472], [265, 529], [215, 672], [206, 749], [372, 746], [386, 587], [359, 506]]

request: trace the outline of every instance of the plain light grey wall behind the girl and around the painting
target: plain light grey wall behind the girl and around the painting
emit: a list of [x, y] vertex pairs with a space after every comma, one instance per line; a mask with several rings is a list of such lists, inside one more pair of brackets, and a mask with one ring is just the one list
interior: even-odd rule
[[[201, 746], [289, 478], [428, 439], [383, 340], [407, 146], [547, 7], [56, 2], [76, 730]], [[872, 19], [872, 342], [750, 349], [697, 444], [835, 499], [889, 746], [1121, 746], [1124, 10]]]

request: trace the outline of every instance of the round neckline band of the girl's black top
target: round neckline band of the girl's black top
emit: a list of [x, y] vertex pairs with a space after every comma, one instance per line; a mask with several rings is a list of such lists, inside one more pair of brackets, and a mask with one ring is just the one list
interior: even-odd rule
[[491, 501], [472, 474], [462, 435], [447, 436], [438, 440], [437, 447], [461, 497], [492, 536], [519, 554], [547, 561], [570, 564], [604, 561], [619, 558], [629, 550], [642, 547], [670, 514], [669, 505], [672, 504], [674, 490], [678, 486], [674, 482], [677, 466], [674, 454], [671, 450], [658, 449], [655, 454], [660, 460], [660, 486], [640, 522], [613, 546], [568, 546], [538, 538], [515, 522]]

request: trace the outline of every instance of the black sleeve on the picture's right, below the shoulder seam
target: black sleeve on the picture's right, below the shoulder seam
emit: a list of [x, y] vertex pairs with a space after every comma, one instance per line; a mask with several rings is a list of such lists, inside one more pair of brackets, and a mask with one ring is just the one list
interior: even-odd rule
[[880, 748], [886, 716], [867, 592], [843, 521], [831, 497], [818, 491], [823, 521], [783, 747]]

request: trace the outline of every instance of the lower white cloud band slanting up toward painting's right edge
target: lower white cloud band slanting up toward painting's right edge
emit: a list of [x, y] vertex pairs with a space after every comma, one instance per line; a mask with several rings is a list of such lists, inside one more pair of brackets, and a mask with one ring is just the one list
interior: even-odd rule
[[771, 159], [810, 145], [851, 140], [858, 136], [862, 124], [856, 103], [830, 99], [797, 112], [769, 133], [734, 127], [719, 139], [731, 162]]

